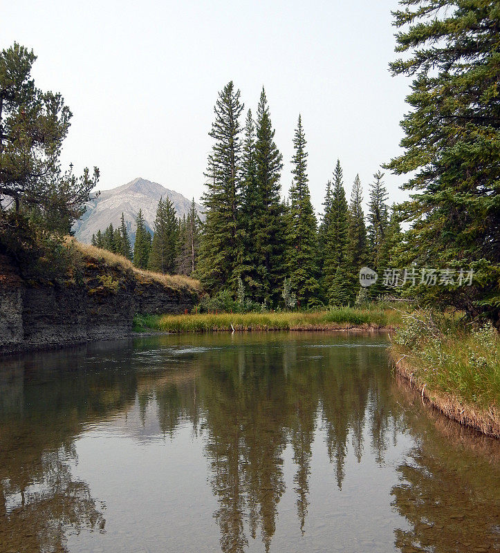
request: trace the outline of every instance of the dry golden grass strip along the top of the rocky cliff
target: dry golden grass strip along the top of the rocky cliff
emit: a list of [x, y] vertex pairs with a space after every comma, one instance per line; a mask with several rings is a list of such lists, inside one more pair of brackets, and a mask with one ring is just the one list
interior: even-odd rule
[[75, 238], [68, 238], [68, 244], [75, 247], [84, 257], [87, 259], [94, 259], [95, 261], [102, 261], [109, 265], [111, 268], [124, 271], [132, 271], [136, 274], [136, 277], [140, 277], [142, 280], [151, 280], [159, 282], [169, 288], [189, 288], [195, 292], [200, 292], [200, 281], [185, 277], [182, 274], [161, 274], [153, 271], [144, 271], [133, 266], [129, 259], [124, 256], [113, 254], [107, 250], [102, 250], [99, 247], [95, 247], [90, 244], [82, 244], [75, 240]]

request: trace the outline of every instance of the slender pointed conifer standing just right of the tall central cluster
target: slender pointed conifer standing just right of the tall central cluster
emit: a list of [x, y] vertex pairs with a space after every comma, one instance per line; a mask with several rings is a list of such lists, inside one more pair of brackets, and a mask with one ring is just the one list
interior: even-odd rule
[[307, 175], [306, 138], [299, 115], [292, 158], [293, 184], [290, 187], [288, 214], [288, 274], [290, 285], [297, 296], [297, 306], [306, 306], [317, 299], [320, 285], [317, 282], [317, 221], [311, 205]]

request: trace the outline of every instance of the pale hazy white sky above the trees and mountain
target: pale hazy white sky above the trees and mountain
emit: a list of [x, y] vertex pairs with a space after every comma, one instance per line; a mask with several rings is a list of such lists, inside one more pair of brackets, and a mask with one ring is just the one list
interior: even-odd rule
[[[41, 88], [73, 111], [63, 161], [97, 165], [100, 189], [137, 176], [199, 198], [217, 92], [230, 81], [255, 111], [264, 85], [290, 185], [297, 117], [321, 209], [337, 158], [346, 195], [399, 151], [409, 82], [391, 77], [396, 0], [267, 2], [15, 0], [2, 3], [0, 47], [38, 55]], [[242, 121], [243, 122], [243, 121]], [[391, 200], [403, 178], [386, 172]]]

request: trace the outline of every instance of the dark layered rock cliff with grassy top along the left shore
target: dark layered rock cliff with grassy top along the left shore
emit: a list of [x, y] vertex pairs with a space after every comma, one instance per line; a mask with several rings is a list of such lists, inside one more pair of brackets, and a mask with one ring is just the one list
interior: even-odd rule
[[0, 258], [0, 355], [121, 338], [135, 313], [182, 313], [198, 300], [189, 281], [138, 272], [102, 254], [87, 252], [78, 278], [57, 282], [26, 281]]

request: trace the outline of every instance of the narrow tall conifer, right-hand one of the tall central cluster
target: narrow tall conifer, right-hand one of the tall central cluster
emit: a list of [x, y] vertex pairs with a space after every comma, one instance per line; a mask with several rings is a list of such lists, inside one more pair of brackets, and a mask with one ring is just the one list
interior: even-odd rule
[[257, 140], [255, 165], [258, 190], [256, 209], [255, 252], [257, 301], [279, 301], [279, 289], [284, 279], [284, 221], [279, 184], [283, 167], [282, 156], [275, 144], [266, 92], [262, 88], [257, 108]]

